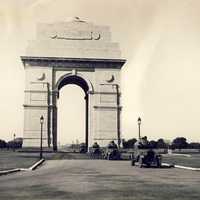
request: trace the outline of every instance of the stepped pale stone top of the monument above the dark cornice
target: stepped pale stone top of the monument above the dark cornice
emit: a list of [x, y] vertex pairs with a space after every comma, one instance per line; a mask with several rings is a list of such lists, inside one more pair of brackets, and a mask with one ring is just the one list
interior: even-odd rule
[[30, 41], [28, 56], [68, 58], [120, 58], [118, 43], [111, 41], [108, 26], [74, 18], [68, 22], [38, 24], [36, 40]]

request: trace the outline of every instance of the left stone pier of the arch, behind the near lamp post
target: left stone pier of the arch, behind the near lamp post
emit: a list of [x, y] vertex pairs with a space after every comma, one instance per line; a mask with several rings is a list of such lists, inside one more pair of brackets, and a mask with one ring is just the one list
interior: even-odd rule
[[39, 147], [40, 117], [44, 117], [43, 147], [48, 146], [49, 116], [48, 92], [46, 83], [32, 82], [25, 90], [24, 141], [23, 147]]

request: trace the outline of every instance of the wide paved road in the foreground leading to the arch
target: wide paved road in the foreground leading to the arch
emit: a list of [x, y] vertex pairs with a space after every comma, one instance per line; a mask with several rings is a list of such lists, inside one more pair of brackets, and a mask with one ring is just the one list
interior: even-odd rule
[[128, 161], [51, 160], [36, 171], [0, 177], [1, 200], [193, 200], [200, 173], [140, 169]]

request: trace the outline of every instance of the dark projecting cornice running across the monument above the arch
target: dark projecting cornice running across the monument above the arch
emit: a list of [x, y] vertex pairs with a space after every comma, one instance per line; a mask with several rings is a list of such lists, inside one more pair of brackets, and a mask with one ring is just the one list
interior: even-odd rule
[[73, 67], [73, 68], [116, 68], [121, 69], [125, 59], [104, 59], [104, 58], [66, 58], [66, 57], [34, 57], [21, 56], [24, 67]]

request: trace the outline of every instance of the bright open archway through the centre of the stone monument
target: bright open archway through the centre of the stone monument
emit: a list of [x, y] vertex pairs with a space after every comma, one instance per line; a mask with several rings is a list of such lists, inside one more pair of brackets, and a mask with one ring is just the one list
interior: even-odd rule
[[[69, 84], [60, 90], [58, 108], [58, 149], [69, 149], [85, 143], [85, 93]], [[74, 144], [74, 145], [71, 145]], [[76, 145], [75, 145], [76, 144]]]

